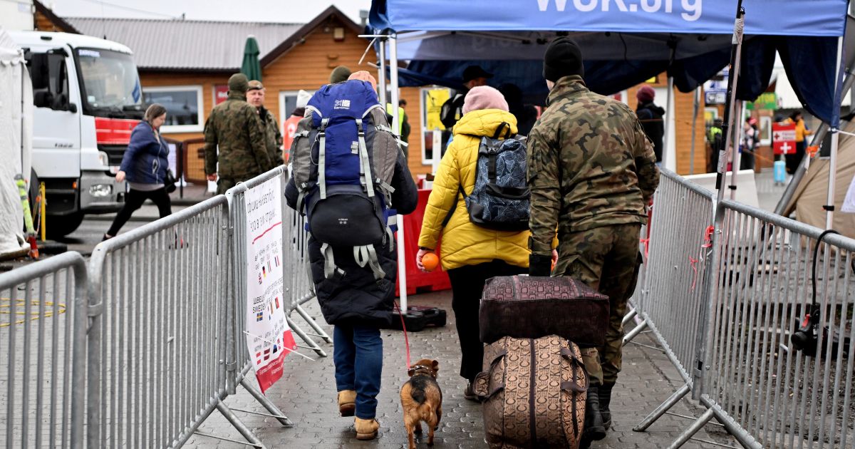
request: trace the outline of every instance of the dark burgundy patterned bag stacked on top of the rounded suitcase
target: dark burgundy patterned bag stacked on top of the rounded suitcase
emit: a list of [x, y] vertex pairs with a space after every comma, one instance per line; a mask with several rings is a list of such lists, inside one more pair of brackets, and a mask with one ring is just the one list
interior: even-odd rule
[[558, 335], [581, 347], [603, 346], [609, 298], [566, 277], [498, 276], [486, 281], [481, 341]]

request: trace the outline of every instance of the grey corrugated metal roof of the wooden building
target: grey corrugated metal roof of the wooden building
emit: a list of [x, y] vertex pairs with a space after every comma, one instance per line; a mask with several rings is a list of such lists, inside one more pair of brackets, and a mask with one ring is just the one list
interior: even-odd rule
[[133, 50], [138, 68], [240, 68], [246, 37], [258, 41], [259, 58], [304, 24], [65, 17], [84, 34], [107, 38]]

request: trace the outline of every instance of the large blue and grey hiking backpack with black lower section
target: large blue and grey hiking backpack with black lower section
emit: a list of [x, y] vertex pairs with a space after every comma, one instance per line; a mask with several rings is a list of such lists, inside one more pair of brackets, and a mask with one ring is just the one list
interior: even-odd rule
[[343, 275], [333, 247], [353, 247], [361, 267], [376, 279], [377, 251], [393, 251], [387, 222], [398, 159], [398, 138], [371, 85], [361, 80], [322, 86], [309, 100], [291, 150], [298, 211], [321, 242], [324, 275]]

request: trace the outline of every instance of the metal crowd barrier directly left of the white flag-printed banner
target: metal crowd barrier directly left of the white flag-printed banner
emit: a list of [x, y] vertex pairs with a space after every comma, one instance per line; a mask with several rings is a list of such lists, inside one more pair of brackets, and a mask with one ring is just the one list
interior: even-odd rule
[[210, 198], [95, 247], [89, 447], [177, 447], [223, 404], [233, 365], [227, 202]]

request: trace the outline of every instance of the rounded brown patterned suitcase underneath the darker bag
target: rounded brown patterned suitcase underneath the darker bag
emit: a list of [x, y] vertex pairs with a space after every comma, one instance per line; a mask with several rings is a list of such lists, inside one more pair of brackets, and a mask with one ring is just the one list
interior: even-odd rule
[[504, 337], [484, 348], [475, 378], [491, 449], [576, 449], [588, 379], [579, 346], [557, 335]]

